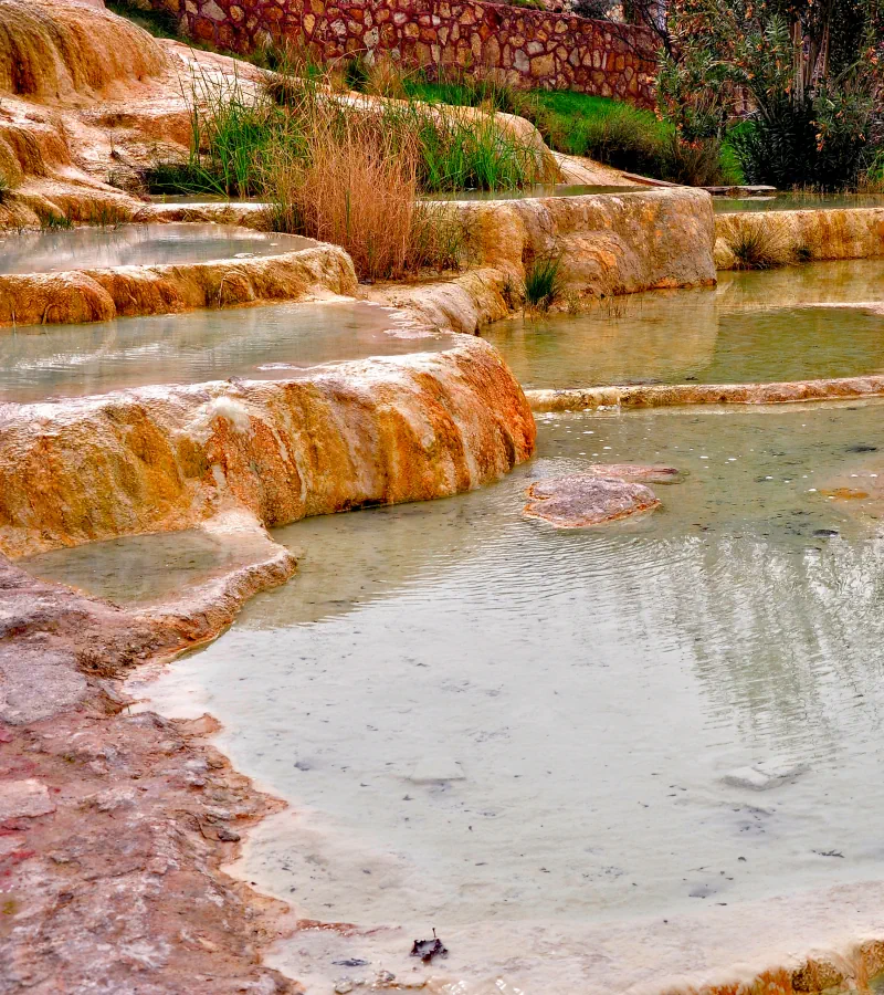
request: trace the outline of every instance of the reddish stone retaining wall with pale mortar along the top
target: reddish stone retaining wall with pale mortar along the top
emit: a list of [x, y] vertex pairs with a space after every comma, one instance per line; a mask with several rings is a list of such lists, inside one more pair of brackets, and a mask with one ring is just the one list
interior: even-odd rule
[[150, 0], [199, 41], [251, 51], [271, 39], [323, 60], [388, 53], [404, 66], [485, 66], [516, 86], [654, 104], [650, 31], [478, 0]]

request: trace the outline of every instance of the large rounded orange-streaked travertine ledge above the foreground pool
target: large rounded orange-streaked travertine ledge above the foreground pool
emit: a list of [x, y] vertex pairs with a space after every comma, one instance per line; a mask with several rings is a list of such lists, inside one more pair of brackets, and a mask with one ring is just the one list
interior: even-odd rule
[[526, 460], [535, 434], [508, 368], [466, 336], [296, 380], [0, 405], [0, 553], [186, 528], [228, 509], [272, 526], [449, 496]]

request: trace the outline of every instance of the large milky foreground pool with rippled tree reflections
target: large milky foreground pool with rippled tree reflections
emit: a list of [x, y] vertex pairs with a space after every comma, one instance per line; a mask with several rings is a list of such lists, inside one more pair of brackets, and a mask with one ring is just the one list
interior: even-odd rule
[[[823, 492], [872, 480], [883, 411], [550, 417], [494, 488], [280, 530], [299, 575], [150, 691], [294, 803], [250, 880], [442, 930], [880, 874], [884, 543]], [[520, 515], [598, 460], [687, 478], [614, 528]], [[798, 773], [724, 781], [759, 762]]]

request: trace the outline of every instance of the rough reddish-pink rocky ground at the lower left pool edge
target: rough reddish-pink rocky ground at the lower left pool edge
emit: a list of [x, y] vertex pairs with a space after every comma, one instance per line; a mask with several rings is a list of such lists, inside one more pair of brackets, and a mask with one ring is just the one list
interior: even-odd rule
[[[221, 870], [278, 803], [206, 741], [133, 714], [120, 678], [207, 638], [291, 562], [240, 569], [213, 610], [137, 615], [0, 558], [0, 991], [297, 992], [261, 965], [280, 903]], [[234, 588], [242, 585], [234, 595]]]

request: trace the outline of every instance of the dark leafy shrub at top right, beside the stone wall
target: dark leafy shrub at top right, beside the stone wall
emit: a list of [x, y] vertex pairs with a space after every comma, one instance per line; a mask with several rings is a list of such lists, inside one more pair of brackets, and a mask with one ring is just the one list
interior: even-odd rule
[[876, 0], [673, 0], [662, 114], [686, 140], [733, 135], [749, 182], [853, 187], [878, 137]]

